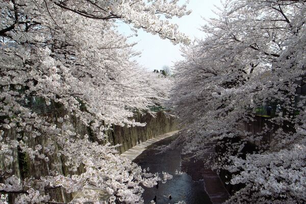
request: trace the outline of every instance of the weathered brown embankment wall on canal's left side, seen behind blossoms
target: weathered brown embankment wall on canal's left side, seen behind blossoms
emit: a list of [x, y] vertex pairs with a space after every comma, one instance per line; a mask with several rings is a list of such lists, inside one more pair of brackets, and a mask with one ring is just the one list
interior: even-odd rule
[[[114, 125], [113, 130], [106, 132], [108, 142], [110, 142], [112, 145], [122, 144], [120, 147], [118, 147], [120, 154], [141, 142], [151, 139], [152, 137], [175, 131], [177, 130], [178, 126], [176, 119], [164, 112], [156, 113], [156, 117], [153, 117], [150, 114], [137, 114], [134, 119], [135, 121], [146, 123], [146, 126], [135, 126], [128, 128]], [[74, 128], [80, 135], [91, 135], [89, 127], [82, 124], [78, 120], [74, 121]], [[16, 138], [16, 140], [18, 139], [14, 129], [6, 131], [4, 139], [5, 137]], [[91, 139], [95, 140], [94, 138]], [[50, 141], [48, 141], [48, 139], [45, 137], [37, 137], [35, 139], [29, 137], [29, 140], [25, 141], [29, 147], [34, 149], [37, 144], [47, 144], [48, 142]], [[56, 148], [58, 148], [57, 145]], [[13, 169], [13, 174], [18, 176], [21, 180], [25, 179], [26, 177], [40, 179], [41, 176], [47, 176], [50, 171], [58, 172], [62, 175], [75, 174], [75, 172], [70, 172], [64, 165], [65, 158], [63, 156], [59, 157], [57, 154], [49, 156], [49, 162], [40, 162], [39, 165], [37, 165], [35, 161], [30, 160], [28, 155], [22, 154], [18, 150], [13, 150], [12, 154], [14, 156], [14, 160], [10, 166]], [[0, 168], [6, 169], [7, 167], [4, 166], [3, 161], [4, 157], [0, 155]], [[80, 174], [82, 172], [84, 172], [84, 168], [80, 166], [77, 173]], [[0, 182], [3, 182], [1, 177]], [[67, 203], [72, 199], [72, 194], [65, 193], [62, 188], [46, 190], [46, 193], [49, 193], [51, 198], [58, 202]], [[9, 203], [14, 203], [13, 200], [15, 196], [16, 195], [14, 194], [9, 195]]]

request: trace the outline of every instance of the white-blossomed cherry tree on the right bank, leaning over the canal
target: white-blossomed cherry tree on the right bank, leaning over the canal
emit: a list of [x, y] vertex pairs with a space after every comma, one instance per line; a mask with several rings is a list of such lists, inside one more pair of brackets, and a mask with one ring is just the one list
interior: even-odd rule
[[[306, 201], [305, 97], [297, 94], [305, 74], [305, 11], [305, 1], [224, 1], [218, 18], [202, 27], [206, 38], [184, 47], [185, 59], [175, 65], [171, 103], [186, 127], [185, 152], [222, 149], [210, 164], [245, 185], [228, 203]], [[244, 129], [268, 103], [281, 104], [283, 114], [266, 119], [259, 133]], [[268, 143], [242, 154], [269, 131]]]

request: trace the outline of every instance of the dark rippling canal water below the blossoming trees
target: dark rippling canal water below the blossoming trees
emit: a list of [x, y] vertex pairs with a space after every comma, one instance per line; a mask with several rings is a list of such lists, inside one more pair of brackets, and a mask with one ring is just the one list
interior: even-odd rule
[[[142, 168], [149, 168], [150, 172], [168, 172], [173, 175], [173, 179], [165, 184], [159, 182], [158, 187], [145, 188], [142, 194], [144, 203], [150, 203], [156, 196], [157, 204], [177, 203], [185, 201], [186, 204], [210, 204], [212, 203], [205, 191], [202, 181], [192, 181], [191, 177], [183, 173], [175, 175], [175, 170], [181, 171], [181, 148], [167, 150], [157, 154], [157, 146], [169, 144], [175, 136], [164, 139], [148, 147], [138, 156], [134, 162]], [[171, 199], [169, 195], [171, 194]]]

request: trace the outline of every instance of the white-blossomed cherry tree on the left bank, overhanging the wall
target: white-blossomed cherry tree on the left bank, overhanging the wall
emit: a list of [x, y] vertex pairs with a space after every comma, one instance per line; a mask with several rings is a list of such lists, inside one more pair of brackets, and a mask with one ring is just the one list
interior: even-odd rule
[[[162, 103], [171, 83], [130, 59], [133, 44], [114, 25], [188, 43], [167, 20], [188, 14], [186, 5], [12, 0], [0, 11], [0, 200], [14, 194], [15, 203], [52, 203], [48, 190], [70, 193], [90, 183], [107, 189], [109, 202], [142, 203], [140, 184], [161, 178], [120, 158], [104, 133], [113, 124], [145, 125], [134, 113]], [[35, 164], [34, 176], [16, 172], [20, 155]], [[92, 198], [99, 202], [94, 191]]]

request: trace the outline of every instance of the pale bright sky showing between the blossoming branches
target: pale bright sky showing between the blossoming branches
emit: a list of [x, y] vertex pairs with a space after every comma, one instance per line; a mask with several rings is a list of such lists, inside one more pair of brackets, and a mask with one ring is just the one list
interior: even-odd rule
[[[181, 2], [184, 2], [184, 0], [181, 0]], [[204, 19], [216, 16], [212, 11], [216, 10], [214, 5], [220, 6], [220, 0], [190, 0], [188, 9], [192, 10], [191, 14], [171, 19], [171, 22], [178, 24], [179, 30], [188, 35], [191, 40], [203, 38], [204, 34], [199, 29], [201, 25], [205, 24]], [[120, 33], [127, 36], [133, 34], [128, 25], [119, 22], [117, 24]], [[134, 59], [149, 70], [160, 70], [163, 66], [172, 67], [173, 62], [183, 59], [180, 45], [173, 45], [169, 40], [163, 40], [158, 35], [139, 30], [137, 36], [131, 37], [129, 41], [137, 42], [134, 49], [141, 53], [140, 57]]]

